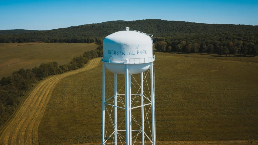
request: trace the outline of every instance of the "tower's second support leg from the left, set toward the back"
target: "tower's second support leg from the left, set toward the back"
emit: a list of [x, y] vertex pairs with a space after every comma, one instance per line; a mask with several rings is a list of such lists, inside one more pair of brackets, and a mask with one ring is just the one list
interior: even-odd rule
[[[117, 106], [117, 74], [114, 74], [114, 97], [115, 97], [115, 106]], [[115, 145], [117, 145], [117, 107], [114, 108], [114, 124], [115, 124]]]

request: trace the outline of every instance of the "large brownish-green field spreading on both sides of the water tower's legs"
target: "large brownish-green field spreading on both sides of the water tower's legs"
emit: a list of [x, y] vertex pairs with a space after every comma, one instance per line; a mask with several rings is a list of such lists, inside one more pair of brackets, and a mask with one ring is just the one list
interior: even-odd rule
[[[258, 64], [198, 56], [155, 53], [157, 140], [257, 140]], [[101, 86], [101, 63], [61, 80], [40, 144], [100, 143]]]

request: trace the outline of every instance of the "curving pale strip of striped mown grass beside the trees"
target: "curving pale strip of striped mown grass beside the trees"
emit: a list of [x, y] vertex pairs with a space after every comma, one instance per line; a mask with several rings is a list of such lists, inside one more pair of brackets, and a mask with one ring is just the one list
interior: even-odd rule
[[38, 126], [55, 85], [64, 77], [95, 68], [100, 58], [94, 58], [84, 68], [47, 77], [31, 91], [26, 100], [0, 130], [0, 144], [25, 145], [38, 143]]

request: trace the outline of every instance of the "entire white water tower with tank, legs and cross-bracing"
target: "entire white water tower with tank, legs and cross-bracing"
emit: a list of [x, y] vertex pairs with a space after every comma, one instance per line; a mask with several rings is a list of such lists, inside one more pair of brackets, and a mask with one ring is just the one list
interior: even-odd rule
[[127, 27], [103, 51], [102, 145], [156, 145], [153, 35]]

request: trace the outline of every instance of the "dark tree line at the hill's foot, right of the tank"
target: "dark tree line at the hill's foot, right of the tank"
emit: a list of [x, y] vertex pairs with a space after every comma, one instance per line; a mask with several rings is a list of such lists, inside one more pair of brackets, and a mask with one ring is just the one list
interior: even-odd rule
[[256, 35], [188, 35], [185, 37], [154, 38], [155, 49], [163, 52], [216, 53], [218, 55], [257, 55]]

